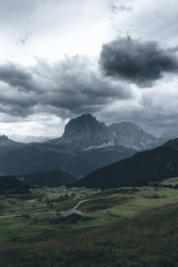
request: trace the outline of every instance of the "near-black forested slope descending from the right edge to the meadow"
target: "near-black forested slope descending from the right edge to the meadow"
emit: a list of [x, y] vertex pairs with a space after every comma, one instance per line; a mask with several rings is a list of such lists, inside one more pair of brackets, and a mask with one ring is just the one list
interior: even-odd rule
[[178, 139], [102, 167], [75, 185], [93, 188], [142, 186], [175, 176], [178, 176]]

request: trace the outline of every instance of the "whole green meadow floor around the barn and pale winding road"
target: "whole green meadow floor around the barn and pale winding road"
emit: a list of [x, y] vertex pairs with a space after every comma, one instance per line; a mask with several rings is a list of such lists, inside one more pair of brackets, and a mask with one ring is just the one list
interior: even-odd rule
[[[61, 220], [91, 198], [77, 207], [85, 220]], [[0, 216], [11, 214], [21, 216], [0, 219], [0, 266], [178, 266], [178, 190], [36, 188], [0, 196]]]

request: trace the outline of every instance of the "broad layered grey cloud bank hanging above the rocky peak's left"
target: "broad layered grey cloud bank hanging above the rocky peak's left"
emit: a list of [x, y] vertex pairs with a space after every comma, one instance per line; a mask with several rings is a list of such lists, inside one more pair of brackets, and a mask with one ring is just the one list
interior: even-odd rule
[[38, 60], [27, 69], [10, 62], [1, 65], [0, 112], [21, 117], [40, 112], [71, 117], [133, 97], [125, 86], [100, 77], [90, 66], [87, 58], [78, 56], [55, 64]]

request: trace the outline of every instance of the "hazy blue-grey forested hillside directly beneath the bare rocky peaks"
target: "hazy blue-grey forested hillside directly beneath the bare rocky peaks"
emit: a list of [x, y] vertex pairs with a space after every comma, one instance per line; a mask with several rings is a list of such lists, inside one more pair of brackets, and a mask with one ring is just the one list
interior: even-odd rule
[[61, 145], [36, 143], [11, 150], [0, 158], [2, 175], [33, 174], [56, 168], [78, 177], [107, 166], [117, 160], [133, 156], [135, 150], [109, 147], [97, 150], [74, 150]]

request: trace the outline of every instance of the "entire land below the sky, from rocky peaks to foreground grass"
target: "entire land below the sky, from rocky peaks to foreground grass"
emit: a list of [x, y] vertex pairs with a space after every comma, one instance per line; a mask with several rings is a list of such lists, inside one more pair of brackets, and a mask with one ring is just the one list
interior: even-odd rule
[[178, 139], [72, 118], [43, 143], [0, 136], [0, 266], [177, 266]]

